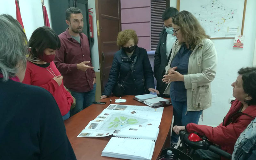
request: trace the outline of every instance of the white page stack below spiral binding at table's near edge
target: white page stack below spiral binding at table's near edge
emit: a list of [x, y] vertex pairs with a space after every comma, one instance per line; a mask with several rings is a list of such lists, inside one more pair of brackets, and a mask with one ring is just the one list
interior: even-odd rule
[[101, 156], [131, 160], [151, 160], [155, 142], [144, 139], [112, 137]]

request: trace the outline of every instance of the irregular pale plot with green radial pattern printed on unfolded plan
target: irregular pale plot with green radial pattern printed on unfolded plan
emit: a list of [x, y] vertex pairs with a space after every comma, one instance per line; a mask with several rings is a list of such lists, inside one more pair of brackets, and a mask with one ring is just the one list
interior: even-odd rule
[[139, 125], [148, 122], [147, 119], [142, 119], [135, 116], [125, 115], [125, 114], [112, 114], [110, 117], [103, 123], [103, 125], [99, 128], [100, 130], [108, 131], [114, 129], [122, 129], [129, 125]]

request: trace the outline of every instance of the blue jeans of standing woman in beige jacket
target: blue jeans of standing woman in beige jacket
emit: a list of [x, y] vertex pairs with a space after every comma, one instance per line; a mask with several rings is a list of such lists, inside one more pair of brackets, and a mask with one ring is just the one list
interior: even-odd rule
[[[172, 100], [172, 106], [173, 106], [173, 116], [174, 116], [174, 122], [173, 126], [179, 125], [179, 126], [186, 126], [189, 123], [195, 123], [198, 124], [200, 115], [202, 114], [201, 111], [189, 111], [187, 112], [187, 101], [174, 101]], [[171, 143], [178, 143], [179, 135], [177, 135], [175, 132], [172, 131], [171, 136]]]

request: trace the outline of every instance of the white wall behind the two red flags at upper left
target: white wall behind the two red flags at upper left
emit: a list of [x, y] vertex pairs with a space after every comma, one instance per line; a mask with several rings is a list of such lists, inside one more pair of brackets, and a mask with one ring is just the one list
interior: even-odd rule
[[[49, 0], [44, 0], [50, 25], [51, 12], [49, 7]], [[20, 14], [25, 28], [26, 35], [28, 39], [32, 35], [33, 31], [44, 26], [44, 16], [42, 10], [41, 0], [19, 0], [20, 4]], [[14, 0], [0, 0], [0, 14], [10, 14], [16, 19], [16, 5]]]

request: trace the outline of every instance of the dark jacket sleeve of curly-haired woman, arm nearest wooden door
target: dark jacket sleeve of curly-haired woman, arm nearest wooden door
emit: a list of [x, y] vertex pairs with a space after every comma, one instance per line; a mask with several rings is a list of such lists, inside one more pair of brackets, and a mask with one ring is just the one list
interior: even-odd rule
[[114, 56], [112, 67], [110, 69], [110, 73], [108, 76], [108, 83], [105, 86], [104, 92], [102, 95], [107, 95], [109, 96], [114, 89], [115, 84], [117, 83], [119, 72], [120, 72], [120, 64], [118, 62], [117, 56], [120, 56], [117, 52]]

